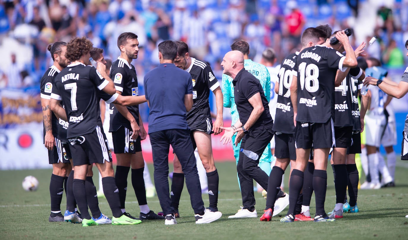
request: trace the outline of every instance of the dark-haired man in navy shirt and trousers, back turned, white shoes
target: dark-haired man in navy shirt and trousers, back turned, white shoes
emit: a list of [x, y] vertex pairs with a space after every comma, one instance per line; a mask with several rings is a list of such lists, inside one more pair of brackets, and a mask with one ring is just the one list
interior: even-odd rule
[[145, 75], [144, 89], [150, 108], [149, 136], [153, 153], [154, 181], [160, 206], [166, 215], [164, 224], [177, 224], [167, 178], [170, 145], [182, 165], [195, 223], [213, 222], [222, 214], [204, 208], [193, 143], [186, 120], [186, 113], [193, 106], [191, 75], [173, 64], [177, 55], [175, 42], [161, 42], [158, 48], [160, 65]]

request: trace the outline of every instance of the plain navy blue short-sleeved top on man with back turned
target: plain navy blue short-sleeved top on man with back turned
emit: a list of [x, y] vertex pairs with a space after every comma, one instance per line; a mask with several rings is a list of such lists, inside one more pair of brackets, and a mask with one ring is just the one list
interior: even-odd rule
[[160, 64], [144, 76], [149, 101], [149, 134], [168, 129], [189, 129], [184, 95], [193, 94], [190, 73], [172, 63]]

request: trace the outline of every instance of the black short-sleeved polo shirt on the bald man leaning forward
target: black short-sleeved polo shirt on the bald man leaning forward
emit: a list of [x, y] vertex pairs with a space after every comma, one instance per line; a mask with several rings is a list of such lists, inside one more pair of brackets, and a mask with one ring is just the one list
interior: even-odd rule
[[235, 104], [237, 105], [239, 121], [241, 121], [242, 125], [248, 121], [248, 118], [254, 109], [248, 99], [259, 92], [262, 99], [262, 105], [264, 105], [264, 112], [262, 112], [261, 116], [259, 116], [251, 129], [259, 126], [272, 128], [273, 120], [269, 113], [268, 101], [266, 100], [264, 90], [262, 89], [259, 80], [245, 70], [245, 68], [242, 68], [237, 76], [235, 76], [232, 83], [234, 85]]

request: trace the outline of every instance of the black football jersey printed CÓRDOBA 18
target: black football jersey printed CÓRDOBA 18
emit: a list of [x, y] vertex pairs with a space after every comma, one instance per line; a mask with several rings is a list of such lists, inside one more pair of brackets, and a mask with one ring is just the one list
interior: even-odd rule
[[334, 117], [334, 81], [346, 57], [333, 48], [316, 45], [297, 56], [296, 121], [326, 123]]

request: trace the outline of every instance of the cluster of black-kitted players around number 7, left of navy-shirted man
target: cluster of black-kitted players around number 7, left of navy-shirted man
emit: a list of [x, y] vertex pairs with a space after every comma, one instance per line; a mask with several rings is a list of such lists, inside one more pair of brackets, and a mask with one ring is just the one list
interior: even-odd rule
[[[130, 167], [127, 167], [126, 174], [120, 172], [120, 176], [118, 174], [114, 176], [111, 152], [100, 119], [100, 99], [112, 103], [113, 109], [120, 105], [130, 106], [124, 108], [128, 112], [132, 111], [132, 114], [126, 114], [124, 117], [113, 110], [112, 120], [115, 117], [122, 117], [111, 121], [113, 136], [120, 139], [115, 143], [115, 151], [129, 155], [141, 151], [140, 136], [136, 139], [138, 132], [135, 134], [133, 132], [139, 129], [137, 126], [139, 122], [135, 122], [135, 119], [138, 119], [137, 105], [145, 102], [146, 99], [144, 96], [135, 97], [138, 95], [137, 76], [135, 67], [130, 64], [137, 58], [137, 45], [137, 35], [133, 33], [124, 33], [118, 37], [121, 57], [113, 62], [111, 71], [111, 75], [115, 76], [115, 83], [107, 75], [106, 66], [102, 62], [98, 62], [97, 68], [90, 66], [90, 51], [93, 47], [86, 38], [75, 38], [68, 44], [55, 42], [48, 48], [54, 64], [42, 77], [41, 98], [42, 102], [44, 101], [42, 104], [44, 143], [49, 149], [49, 163], [53, 164], [50, 182], [50, 222], [65, 220], [74, 223], [82, 222], [82, 226], [91, 226], [110, 223], [129, 225], [138, 224], [141, 220], [164, 219], [163, 216], [158, 216], [151, 211], [147, 205], [143, 180], [144, 165], [140, 167], [140, 163], [137, 165], [136, 161], [131, 160], [127, 164], [130, 166], [132, 163], [132, 183], [140, 205], [140, 219], [126, 213], [124, 208], [126, 178]], [[121, 81], [122, 78], [123, 81]], [[63, 103], [64, 107], [60, 103]], [[132, 156], [128, 158], [132, 159]], [[142, 158], [138, 160], [143, 163]], [[67, 169], [71, 168], [70, 162], [73, 170], [69, 172]], [[126, 161], [122, 162], [126, 164]], [[113, 213], [112, 219], [102, 214], [98, 207], [96, 188], [91, 178], [93, 163], [102, 175], [102, 186]], [[133, 167], [133, 164], [139, 167]], [[123, 166], [118, 167], [126, 169]], [[64, 181], [67, 210], [62, 216], [60, 203]], [[78, 205], [80, 213], [75, 205]], [[88, 207], [92, 216], [89, 215]]]

